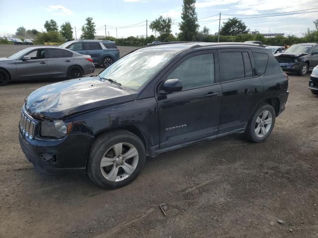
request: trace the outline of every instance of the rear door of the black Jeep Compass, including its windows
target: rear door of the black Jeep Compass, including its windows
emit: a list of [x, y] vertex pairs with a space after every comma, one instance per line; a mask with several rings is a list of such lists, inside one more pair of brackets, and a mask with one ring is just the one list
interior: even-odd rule
[[248, 49], [218, 50], [223, 90], [219, 134], [240, 131], [251, 107], [262, 97], [263, 84], [253, 74], [255, 62]]

